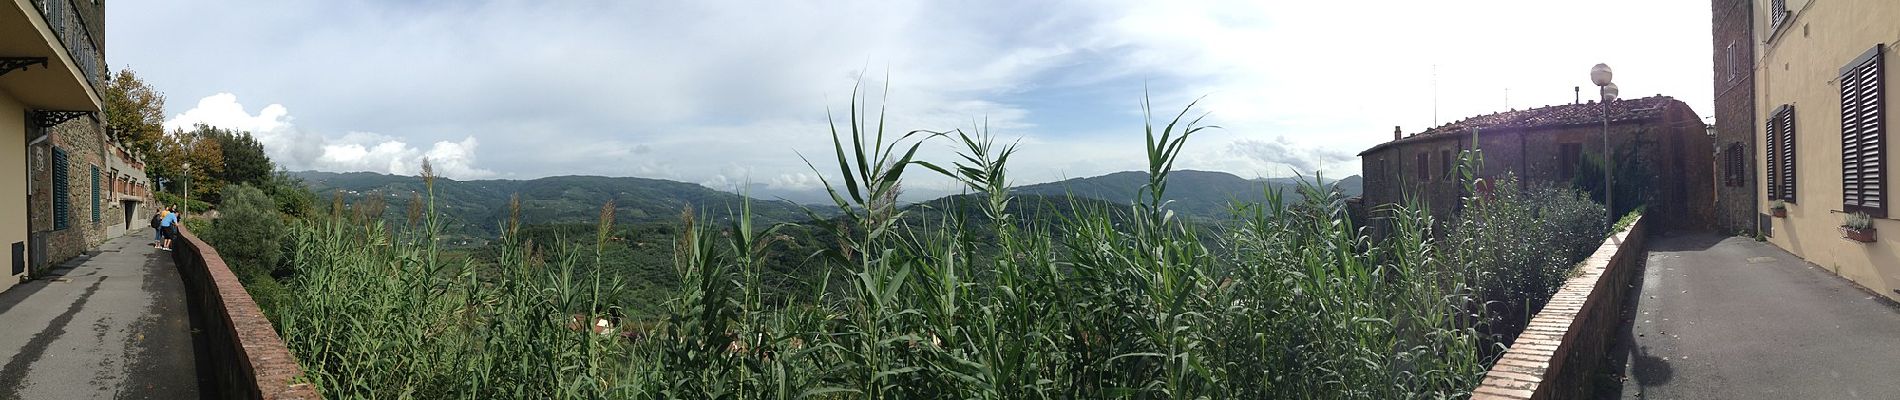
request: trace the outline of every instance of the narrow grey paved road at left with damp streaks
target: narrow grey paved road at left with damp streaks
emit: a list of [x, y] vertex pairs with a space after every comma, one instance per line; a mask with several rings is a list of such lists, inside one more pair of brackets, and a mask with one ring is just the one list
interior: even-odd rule
[[146, 241], [0, 292], [0, 398], [200, 398], [184, 282]]

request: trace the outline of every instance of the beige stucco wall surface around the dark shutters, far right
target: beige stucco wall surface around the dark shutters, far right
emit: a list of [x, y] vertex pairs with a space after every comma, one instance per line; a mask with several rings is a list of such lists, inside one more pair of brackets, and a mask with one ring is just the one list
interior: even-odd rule
[[[1758, 9], [1767, 9], [1765, 0], [1756, 2]], [[1900, 89], [1894, 59], [1894, 44], [1900, 42], [1900, 2], [1890, 0], [1837, 0], [1837, 2], [1799, 2], [1790, 0], [1796, 11], [1780, 30], [1769, 30], [1767, 13], [1756, 13], [1758, 53], [1756, 70], [1758, 100], [1754, 116], [1763, 121], [1780, 104], [1796, 106], [1796, 193], [1797, 203], [1788, 205], [1786, 218], [1773, 218], [1773, 237], [1769, 243], [1794, 252], [1816, 265], [1854, 281], [1887, 298], [1900, 300], [1900, 216], [1889, 205], [1890, 218], [1875, 220], [1881, 233], [1877, 243], [1856, 243], [1841, 237], [1839, 226], [1847, 214], [1841, 212], [1841, 87], [1839, 68], [1854, 61], [1875, 44], [1887, 44], [1881, 55], [1887, 63], [1883, 83], [1887, 85], [1887, 186], [1889, 197], [1900, 195], [1892, 190], [1900, 182], [1900, 159], [1896, 150], [1896, 127], [1900, 114], [1894, 114], [1894, 93]], [[1765, 127], [1754, 127], [1761, 136]], [[1756, 152], [1763, 152], [1758, 140]], [[1765, 165], [1758, 157], [1756, 163]], [[1758, 171], [1756, 178], [1765, 178]], [[1765, 190], [1756, 191], [1758, 199], [1767, 197]], [[1759, 212], [1767, 212], [1761, 205]]]

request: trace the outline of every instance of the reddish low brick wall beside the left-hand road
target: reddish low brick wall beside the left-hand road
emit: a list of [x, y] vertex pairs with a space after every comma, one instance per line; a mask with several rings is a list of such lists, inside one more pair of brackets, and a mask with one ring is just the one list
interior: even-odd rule
[[298, 383], [304, 372], [296, 356], [218, 250], [182, 226], [179, 231], [182, 237], [173, 241], [171, 260], [196, 309], [192, 317], [205, 326], [209, 345], [201, 351], [211, 358], [215, 370], [209, 373], [218, 392], [226, 398], [321, 398], [310, 383]]

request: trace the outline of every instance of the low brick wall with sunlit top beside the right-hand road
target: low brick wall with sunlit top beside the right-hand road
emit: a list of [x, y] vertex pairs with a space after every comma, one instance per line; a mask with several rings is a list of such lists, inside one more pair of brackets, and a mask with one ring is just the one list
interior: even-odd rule
[[1630, 281], [1644, 262], [1651, 218], [1604, 241], [1550, 296], [1524, 334], [1484, 373], [1471, 398], [1586, 398], [1617, 330]]

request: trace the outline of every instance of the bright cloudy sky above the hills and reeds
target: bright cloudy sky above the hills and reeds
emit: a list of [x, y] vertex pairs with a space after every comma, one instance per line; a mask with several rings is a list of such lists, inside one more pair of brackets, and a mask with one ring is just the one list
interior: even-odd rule
[[887, 131], [1020, 142], [1015, 184], [1146, 169], [1144, 97], [1220, 127], [1178, 169], [1347, 176], [1393, 127], [1592, 99], [1596, 63], [1710, 116], [1708, 23], [1678, 0], [175, 0], [112, 2], [106, 61], [165, 93], [167, 129], [251, 131], [291, 171], [809, 191], [800, 155], [836, 171], [857, 85]]

